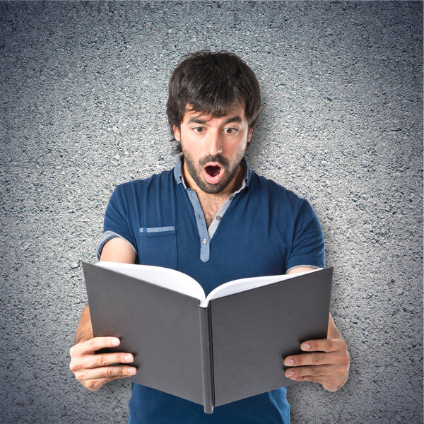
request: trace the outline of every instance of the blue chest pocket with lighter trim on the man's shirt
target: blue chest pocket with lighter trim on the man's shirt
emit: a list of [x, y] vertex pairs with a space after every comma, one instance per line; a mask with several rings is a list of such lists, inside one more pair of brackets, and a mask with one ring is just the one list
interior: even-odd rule
[[140, 228], [140, 264], [177, 269], [177, 259], [177, 233], [175, 227]]

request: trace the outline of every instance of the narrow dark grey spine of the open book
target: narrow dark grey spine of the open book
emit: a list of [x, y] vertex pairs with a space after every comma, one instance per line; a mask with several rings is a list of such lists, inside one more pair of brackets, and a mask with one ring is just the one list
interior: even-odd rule
[[199, 307], [199, 322], [204, 412], [213, 413], [213, 367], [210, 307]]

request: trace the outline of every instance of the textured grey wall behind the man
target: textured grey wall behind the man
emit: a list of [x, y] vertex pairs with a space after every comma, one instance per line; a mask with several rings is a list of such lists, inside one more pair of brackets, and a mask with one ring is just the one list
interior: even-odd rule
[[252, 168], [306, 196], [335, 267], [341, 391], [290, 387], [293, 423], [423, 421], [422, 2], [0, 3], [1, 423], [124, 423], [129, 383], [69, 371], [81, 260], [112, 189], [172, 167], [167, 80], [240, 54], [263, 110]]

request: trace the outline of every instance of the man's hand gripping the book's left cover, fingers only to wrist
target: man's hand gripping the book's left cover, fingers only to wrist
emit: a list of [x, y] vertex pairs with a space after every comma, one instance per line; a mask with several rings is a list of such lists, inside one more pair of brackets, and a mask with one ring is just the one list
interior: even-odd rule
[[119, 343], [119, 338], [116, 337], [95, 337], [71, 347], [69, 368], [86, 389], [95, 391], [107, 382], [117, 378], [131, 377], [137, 372], [135, 367], [111, 366], [117, 363], [133, 362], [134, 356], [131, 353], [95, 353], [102, 348], [116, 347]]

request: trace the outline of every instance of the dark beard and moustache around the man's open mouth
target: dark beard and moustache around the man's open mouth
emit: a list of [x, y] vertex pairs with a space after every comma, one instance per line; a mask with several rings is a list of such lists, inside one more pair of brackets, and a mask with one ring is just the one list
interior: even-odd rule
[[[184, 148], [182, 149], [182, 153], [190, 176], [194, 179], [197, 187], [207, 194], [220, 193], [228, 186], [228, 184], [230, 184], [230, 182], [232, 182], [232, 179], [237, 174], [237, 170], [242, 162], [243, 156], [245, 155], [244, 151], [240, 152], [232, 163], [219, 153], [216, 156], [207, 155], [205, 158], [199, 160], [199, 163], [196, 165], [192, 156], [187, 151], [184, 151]], [[217, 184], [210, 184], [204, 178], [204, 165], [211, 162], [217, 162], [221, 167], [223, 167], [223, 179], [221, 179]]]

